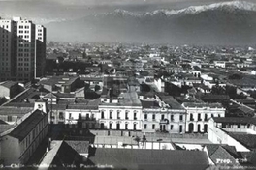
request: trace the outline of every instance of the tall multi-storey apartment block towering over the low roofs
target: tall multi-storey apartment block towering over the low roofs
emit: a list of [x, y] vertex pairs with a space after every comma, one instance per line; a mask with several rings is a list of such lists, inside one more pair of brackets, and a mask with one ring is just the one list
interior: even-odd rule
[[14, 17], [0, 19], [0, 80], [32, 80], [44, 74], [46, 28]]

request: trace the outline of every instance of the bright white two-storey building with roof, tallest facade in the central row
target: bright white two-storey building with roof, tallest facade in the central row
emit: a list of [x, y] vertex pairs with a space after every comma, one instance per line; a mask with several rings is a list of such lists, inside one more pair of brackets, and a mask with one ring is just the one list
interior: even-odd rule
[[142, 130], [142, 104], [136, 92], [102, 102], [97, 117], [101, 129]]

